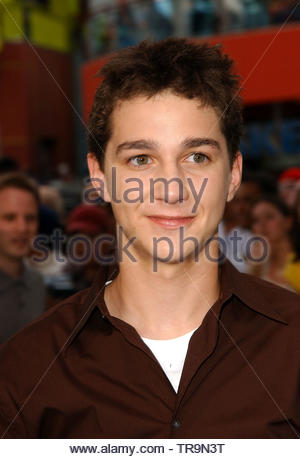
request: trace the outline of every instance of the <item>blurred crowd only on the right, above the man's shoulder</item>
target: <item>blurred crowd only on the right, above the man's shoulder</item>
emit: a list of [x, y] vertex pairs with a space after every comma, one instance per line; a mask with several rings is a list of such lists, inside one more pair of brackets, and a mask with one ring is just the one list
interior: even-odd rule
[[246, 172], [227, 204], [219, 237], [241, 272], [300, 293], [300, 168], [277, 179]]

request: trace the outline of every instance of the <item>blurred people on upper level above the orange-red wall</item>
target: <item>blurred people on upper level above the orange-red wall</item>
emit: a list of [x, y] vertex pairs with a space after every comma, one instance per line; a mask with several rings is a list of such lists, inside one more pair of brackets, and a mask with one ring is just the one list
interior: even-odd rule
[[128, 0], [86, 23], [91, 56], [146, 38], [203, 36], [299, 21], [296, 0]]

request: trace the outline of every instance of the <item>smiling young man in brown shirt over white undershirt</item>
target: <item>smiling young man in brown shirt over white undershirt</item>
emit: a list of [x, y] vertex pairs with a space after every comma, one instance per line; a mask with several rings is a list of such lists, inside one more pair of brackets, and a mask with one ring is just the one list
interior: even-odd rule
[[222, 263], [216, 237], [241, 180], [232, 62], [168, 39], [102, 76], [88, 164], [118, 271], [2, 347], [3, 438], [298, 437], [299, 297]]

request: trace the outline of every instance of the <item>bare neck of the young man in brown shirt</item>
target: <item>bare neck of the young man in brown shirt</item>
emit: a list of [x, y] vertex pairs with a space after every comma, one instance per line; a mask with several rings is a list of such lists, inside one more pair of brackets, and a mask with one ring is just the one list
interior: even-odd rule
[[158, 266], [120, 263], [117, 278], [105, 289], [112, 316], [145, 338], [172, 339], [198, 328], [219, 297], [218, 263], [199, 261]]

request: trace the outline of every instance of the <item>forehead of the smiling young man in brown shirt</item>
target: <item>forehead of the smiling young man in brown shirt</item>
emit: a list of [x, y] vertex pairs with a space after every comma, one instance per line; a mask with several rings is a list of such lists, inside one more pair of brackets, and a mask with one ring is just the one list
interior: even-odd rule
[[[223, 137], [219, 116], [200, 100], [187, 99], [171, 92], [152, 97], [139, 96], [119, 101], [112, 117], [112, 138], [153, 137], [162, 143], [183, 136]], [[224, 139], [224, 137], [223, 137]], [[225, 141], [225, 139], [224, 139]]]

